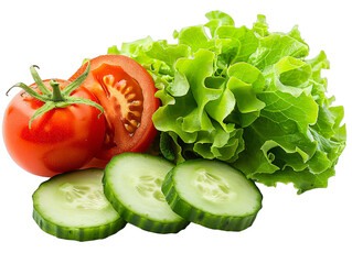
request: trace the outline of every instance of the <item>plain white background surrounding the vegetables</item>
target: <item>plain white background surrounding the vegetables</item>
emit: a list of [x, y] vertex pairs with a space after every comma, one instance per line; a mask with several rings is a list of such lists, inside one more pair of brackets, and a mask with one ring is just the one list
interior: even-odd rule
[[[329, 94], [345, 107], [351, 124], [351, 12], [349, 1], [1, 1], [0, 113], [18, 81], [32, 84], [29, 67], [43, 78], [68, 78], [83, 58], [150, 35], [172, 40], [173, 30], [203, 24], [222, 10], [237, 26], [267, 15], [270, 31], [299, 24], [311, 56], [326, 51]], [[348, 125], [348, 129], [351, 129]], [[350, 132], [350, 131], [349, 131]], [[224, 232], [190, 224], [178, 234], [153, 234], [127, 226], [105, 240], [75, 242], [41, 231], [32, 220], [31, 196], [45, 178], [30, 175], [0, 141], [0, 263], [352, 263], [352, 175], [348, 146], [327, 189], [301, 196], [290, 186], [259, 185], [264, 207], [254, 226]]]

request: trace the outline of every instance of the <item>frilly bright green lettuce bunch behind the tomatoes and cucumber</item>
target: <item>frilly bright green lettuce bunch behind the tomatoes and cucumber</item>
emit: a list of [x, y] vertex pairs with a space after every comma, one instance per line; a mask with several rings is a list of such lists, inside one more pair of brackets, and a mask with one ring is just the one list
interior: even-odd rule
[[268, 186], [292, 183], [298, 194], [327, 187], [346, 134], [343, 108], [326, 97], [326, 54], [307, 58], [298, 28], [270, 33], [264, 15], [252, 29], [221, 11], [206, 18], [175, 31], [177, 43], [148, 36], [108, 50], [153, 77], [161, 153], [175, 163], [224, 161]]

